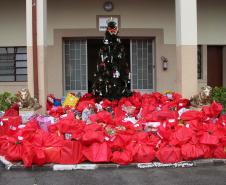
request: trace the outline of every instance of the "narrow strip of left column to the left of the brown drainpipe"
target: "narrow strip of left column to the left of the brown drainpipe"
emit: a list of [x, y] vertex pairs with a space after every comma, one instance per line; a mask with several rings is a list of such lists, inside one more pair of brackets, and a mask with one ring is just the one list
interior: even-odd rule
[[32, 51], [32, 0], [26, 0], [26, 39], [27, 39], [27, 81], [31, 96], [34, 97], [33, 51]]

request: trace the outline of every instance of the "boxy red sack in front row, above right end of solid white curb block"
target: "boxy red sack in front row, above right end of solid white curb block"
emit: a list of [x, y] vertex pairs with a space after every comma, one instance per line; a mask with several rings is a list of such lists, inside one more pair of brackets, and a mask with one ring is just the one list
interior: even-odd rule
[[83, 155], [91, 162], [109, 162], [111, 149], [106, 142], [94, 143], [83, 149]]

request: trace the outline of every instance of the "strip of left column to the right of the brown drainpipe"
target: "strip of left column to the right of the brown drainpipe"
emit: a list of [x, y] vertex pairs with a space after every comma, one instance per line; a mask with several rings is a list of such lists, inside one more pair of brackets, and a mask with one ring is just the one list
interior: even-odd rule
[[46, 107], [46, 96], [47, 96], [46, 34], [47, 34], [47, 0], [37, 0], [39, 103], [42, 105], [44, 111]]

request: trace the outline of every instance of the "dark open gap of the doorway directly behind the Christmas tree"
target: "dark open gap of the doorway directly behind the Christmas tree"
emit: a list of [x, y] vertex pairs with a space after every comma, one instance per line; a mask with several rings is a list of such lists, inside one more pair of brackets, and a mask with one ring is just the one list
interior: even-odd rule
[[[125, 62], [129, 64], [130, 68], [130, 40], [121, 39], [125, 48]], [[92, 92], [92, 85], [94, 81], [93, 74], [97, 70], [97, 63], [100, 61], [99, 50], [103, 46], [103, 39], [94, 38], [87, 39], [87, 54], [88, 54], [88, 92]]]

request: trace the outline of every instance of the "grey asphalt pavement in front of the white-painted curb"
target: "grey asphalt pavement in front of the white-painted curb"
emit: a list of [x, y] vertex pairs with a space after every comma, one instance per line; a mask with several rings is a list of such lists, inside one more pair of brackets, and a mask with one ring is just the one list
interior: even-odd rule
[[0, 167], [0, 185], [226, 185], [226, 166], [11, 170]]

